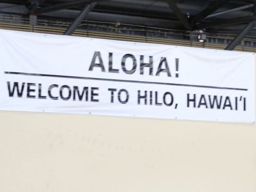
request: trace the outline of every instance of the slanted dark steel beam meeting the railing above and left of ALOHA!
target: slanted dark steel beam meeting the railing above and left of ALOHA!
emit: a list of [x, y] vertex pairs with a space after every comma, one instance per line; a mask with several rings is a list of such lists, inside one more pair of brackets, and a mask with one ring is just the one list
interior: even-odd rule
[[97, 2], [87, 4], [82, 12], [77, 16], [77, 18], [72, 22], [72, 24], [69, 26], [69, 28], [66, 30], [64, 35], [72, 35], [73, 31], [77, 29], [77, 26], [82, 22], [82, 20], [88, 15], [91, 10], [96, 6]]

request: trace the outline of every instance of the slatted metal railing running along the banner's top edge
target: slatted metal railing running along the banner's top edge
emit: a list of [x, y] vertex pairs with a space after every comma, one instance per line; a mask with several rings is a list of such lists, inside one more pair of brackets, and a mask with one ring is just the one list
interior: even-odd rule
[[[69, 22], [62, 20], [49, 20], [44, 18], [26, 18], [20, 15], [0, 15], [0, 28], [37, 33], [50, 33], [62, 35], [69, 26]], [[87, 36], [92, 38], [107, 38], [113, 40], [127, 40], [134, 42], [147, 42], [153, 44], [182, 45], [189, 47], [205, 47], [211, 49], [224, 49], [235, 38], [234, 35], [207, 34], [207, 41], [197, 41], [196, 33], [189, 31], [176, 31], [147, 26], [134, 26], [112, 22], [95, 22], [83, 20], [74, 31], [74, 36]], [[236, 51], [256, 52], [256, 38], [247, 36]]]

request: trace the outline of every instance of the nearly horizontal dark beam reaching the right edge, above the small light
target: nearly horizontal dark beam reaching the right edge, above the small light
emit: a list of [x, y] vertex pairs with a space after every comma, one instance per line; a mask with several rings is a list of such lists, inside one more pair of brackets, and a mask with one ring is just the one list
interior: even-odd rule
[[198, 26], [200, 29], [223, 27], [223, 26], [234, 26], [237, 24], [247, 24], [251, 21], [256, 20], [256, 16], [238, 17], [234, 19], [217, 20], [216, 22], [209, 22]]

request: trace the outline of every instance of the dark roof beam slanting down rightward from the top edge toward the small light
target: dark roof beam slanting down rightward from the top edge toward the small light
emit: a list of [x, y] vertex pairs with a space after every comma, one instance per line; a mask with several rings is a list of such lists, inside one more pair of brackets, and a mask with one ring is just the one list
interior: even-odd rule
[[178, 17], [179, 21], [181, 24], [183, 24], [184, 28], [187, 30], [192, 30], [192, 27], [190, 26], [190, 22], [188, 22], [187, 15], [184, 15], [181, 10], [178, 8], [177, 4], [175, 3], [174, 0], [165, 0], [172, 11], [175, 13], [175, 15]]

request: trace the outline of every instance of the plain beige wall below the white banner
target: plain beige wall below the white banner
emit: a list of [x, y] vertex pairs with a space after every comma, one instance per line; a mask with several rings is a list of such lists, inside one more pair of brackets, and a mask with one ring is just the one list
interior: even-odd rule
[[0, 112], [0, 125], [0, 191], [256, 191], [254, 124]]

